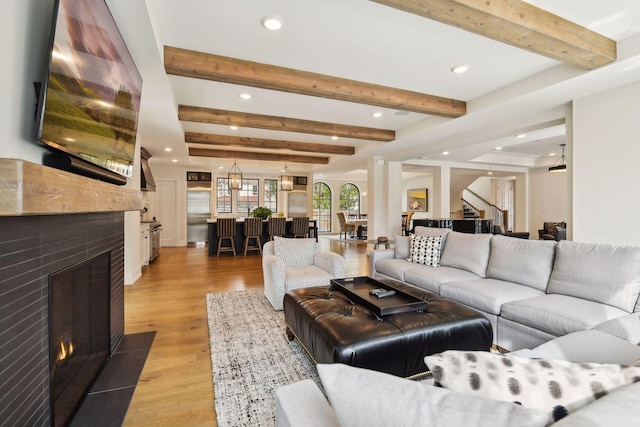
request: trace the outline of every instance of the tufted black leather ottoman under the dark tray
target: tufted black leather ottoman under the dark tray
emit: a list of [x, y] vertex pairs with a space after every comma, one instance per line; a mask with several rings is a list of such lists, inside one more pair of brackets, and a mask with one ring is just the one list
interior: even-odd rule
[[489, 350], [491, 323], [482, 314], [436, 294], [393, 281], [396, 289], [428, 301], [423, 312], [378, 320], [331, 286], [295, 289], [284, 296], [289, 338], [316, 363], [345, 363], [401, 377], [426, 371], [424, 357], [445, 350]]

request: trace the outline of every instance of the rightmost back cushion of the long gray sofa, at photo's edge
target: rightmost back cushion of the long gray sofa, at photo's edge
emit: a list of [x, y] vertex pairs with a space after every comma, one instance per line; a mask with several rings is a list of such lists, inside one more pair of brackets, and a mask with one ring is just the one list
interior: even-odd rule
[[558, 243], [547, 292], [634, 311], [640, 293], [640, 247]]

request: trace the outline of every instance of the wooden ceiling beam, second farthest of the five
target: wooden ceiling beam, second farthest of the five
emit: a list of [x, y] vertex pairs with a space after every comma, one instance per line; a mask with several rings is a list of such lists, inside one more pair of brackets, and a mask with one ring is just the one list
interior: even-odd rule
[[214, 135], [210, 133], [185, 132], [185, 142], [223, 147], [264, 148], [267, 150], [292, 150], [308, 153], [353, 155], [355, 147], [347, 145], [314, 144], [309, 142], [283, 141], [276, 139], [246, 138], [242, 136]]

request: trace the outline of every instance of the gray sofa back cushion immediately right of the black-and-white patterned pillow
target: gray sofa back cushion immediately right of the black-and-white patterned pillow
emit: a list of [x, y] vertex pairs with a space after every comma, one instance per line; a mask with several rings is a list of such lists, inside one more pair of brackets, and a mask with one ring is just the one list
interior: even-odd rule
[[486, 277], [491, 237], [491, 234], [467, 234], [456, 231], [448, 233], [440, 265], [462, 268], [480, 277]]

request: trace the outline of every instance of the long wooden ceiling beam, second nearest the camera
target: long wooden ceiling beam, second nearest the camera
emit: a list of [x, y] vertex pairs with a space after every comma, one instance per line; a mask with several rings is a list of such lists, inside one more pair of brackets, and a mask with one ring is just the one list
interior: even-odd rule
[[309, 71], [164, 47], [168, 74], [318, 96], [444, 117], [460, 117], [466, 103], [419, 92], [332, 77]]

